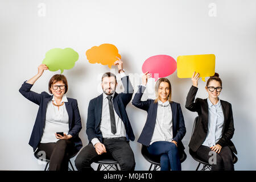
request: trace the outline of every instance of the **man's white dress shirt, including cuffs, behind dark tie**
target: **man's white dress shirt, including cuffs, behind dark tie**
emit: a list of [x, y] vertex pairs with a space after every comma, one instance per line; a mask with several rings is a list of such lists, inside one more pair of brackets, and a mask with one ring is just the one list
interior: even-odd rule
[[[121, 77], [125, 77], [125, 73], [120, 73]], [[111, 95], [112, 96], [112, 105], [113, 105], [113, 97], [114, 93]], [[103, 138], [117, 138], [117, 137], [126, 137], [126, 130], [125, 130], [125, 125], [123, 124], [123, 121], [121, 118], [119, 118], [118, 114], [115, 112], [114, 105], [114, 115], [115, 115], [115, 128], [117, 129], [117, 132], [113, 134], [111, 132], [111, 123], [110, 123], [110, 112], [109, 112], [109, 100], [108, 100], [108, 95], [103, 93], [103, 101], [102, 101], [102, 113], [101, 113], [101, 123], [100, 123], [100, 130], [102, 133]], [[100, 142], [98, 138], [93, 138], [91, 140], [93, 146]]]

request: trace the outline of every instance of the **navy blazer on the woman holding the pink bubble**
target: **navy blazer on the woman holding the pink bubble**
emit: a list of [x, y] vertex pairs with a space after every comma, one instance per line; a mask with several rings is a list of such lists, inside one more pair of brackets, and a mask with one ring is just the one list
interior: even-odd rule
[[[141, 97], [145, 89], [146, 87], [141, 85], [139, 86], [138, 92], [135, 94], [132, 103], [135, 107], [147, 111], [147, 120], [143, 127], [142, 133], [139, 136], [138, 142], [144, 146], [149, 146], [155, 129], [158, 103], [154, 103], [154, 100], [151, 99], [141, 101]], [[177, 142], [179, 154], [182, 154], [185, 147], [183, 146], [181, 140], [186, 133], [184, 118], [180, 104], [173, 101], [170, 104], [172, 109], [172, 135], [174, 140]]]

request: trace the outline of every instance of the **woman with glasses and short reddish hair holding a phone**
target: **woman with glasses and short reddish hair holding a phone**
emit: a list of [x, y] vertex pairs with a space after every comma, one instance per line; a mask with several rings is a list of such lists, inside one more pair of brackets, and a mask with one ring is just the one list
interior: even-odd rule
[[68, 170], [70, 156], [82, 147], [79, 138], [81, 117], [77, 100], [65, 96], [68, 82], [64, 75], [54, 75], [49, 80], [48, 90], [52, 95], [30, 90], [47, 69], [47, 65], [40, 64], [38, 74], [25, 81], [19, 89], [24, 97], [39, 105], [29, 144], [34, 151], [38, 148], [45, 152], [50, 160], [50, 171]]

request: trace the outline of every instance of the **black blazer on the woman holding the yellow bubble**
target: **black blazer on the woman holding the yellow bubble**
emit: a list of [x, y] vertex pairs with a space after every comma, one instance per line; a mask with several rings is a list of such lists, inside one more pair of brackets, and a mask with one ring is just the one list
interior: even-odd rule
[[[191, 148], [192, 151], [196, 152], [197, 149], [204, 143], [205, 138], [207, 137], [208, 132], [208, 103], [207, 99], [196, 98], [198, 88], [196, 86], [191, 86], [185, 107], [193, 112], [197, 112], [199, 115], [198, 121], [196, 123], [195, 129], [193, 131], [193, 135], [188, 144], [188, 147]], [[195, 101], [195, 102], [194, 102]], [[222, 137], [216, 144], [220, 144], [220, 146], [229, 146], [230, 149], [237, 154], [236, 147], [233, 142], [230, 140], [234, 134], [234, 121], [233, 121], [233, 113], [232, 106], [229, 102], [222, 101], [221, 106], [224, 114], [224, 124], [222, 129]]]

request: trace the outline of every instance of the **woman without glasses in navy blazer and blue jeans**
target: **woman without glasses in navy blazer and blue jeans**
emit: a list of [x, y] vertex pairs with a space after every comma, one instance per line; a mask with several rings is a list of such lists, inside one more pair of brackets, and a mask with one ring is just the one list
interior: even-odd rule
[[156, 100], [141, 101], [146, 89], [148, 72], [142, 76], [142, 85], [133, 99], [133, 105], [147, 111], [147, 120], [138, 142], [147, 146], [151, 155], [160, 156], [162, 171], [180, 171], [180, 156], [183, 154], [183, 139], [186, 129], [180, 104], [171, 101], [171, 83], [159, 78], [155, 84]]

